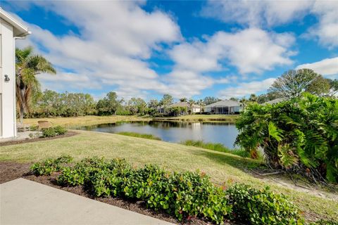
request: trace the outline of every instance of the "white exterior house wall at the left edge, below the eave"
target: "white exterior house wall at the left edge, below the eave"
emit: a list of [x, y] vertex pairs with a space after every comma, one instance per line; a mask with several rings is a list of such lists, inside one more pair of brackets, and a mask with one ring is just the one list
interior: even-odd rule
[[13, 26], [0, 18], [0, 138], [16, 136], [14, 46]]

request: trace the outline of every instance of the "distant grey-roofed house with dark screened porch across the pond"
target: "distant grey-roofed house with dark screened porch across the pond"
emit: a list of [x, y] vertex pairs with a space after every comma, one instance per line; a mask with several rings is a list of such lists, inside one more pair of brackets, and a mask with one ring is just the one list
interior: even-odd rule
[[210, 114], [239, 114], [242, 110], [242, 103], [232, 100], [218, 101], [204, 107], [204, 112]]

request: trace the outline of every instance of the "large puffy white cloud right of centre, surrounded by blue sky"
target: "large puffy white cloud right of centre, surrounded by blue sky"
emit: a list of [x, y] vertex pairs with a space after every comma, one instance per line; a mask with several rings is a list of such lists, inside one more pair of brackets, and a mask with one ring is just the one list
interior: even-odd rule
[[164, 77], [168, 84], [166, 91], [174, 97], [190, 97], [213, 84], [227, 84], [233, 76], [218, 79], [207, 76], [209, 72], [227, 71], [223, 68], [225, 63], [236, 67], [242, 78], [251, 72], [261, 73], [280, 65], [291, 65], [290, 56], [294, 51], [289, 48], [293, 44], [292, 34], [277, 34], [258, 28], [234, 33], [217, 32], [203, 40], [185, 41], [169, 51], [175, 65], [173, 71]]

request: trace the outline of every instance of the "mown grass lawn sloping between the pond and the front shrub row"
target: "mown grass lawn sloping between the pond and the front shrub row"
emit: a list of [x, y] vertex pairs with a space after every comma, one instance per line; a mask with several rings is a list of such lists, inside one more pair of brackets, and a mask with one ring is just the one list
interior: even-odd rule
[[306, 216], [317, 214], [328, 219], [338, 218], [337, 198], [332, 200], [311, 191], [308, 193], [296, 191], [292, 187], [283, 186], [268, 179], [258, 179], [247, 172], [247, 168], [260, 165], [255, 160], [177, 143], [118, 134], [78, 132], [80, 134], [64, 139], [2, 146], [0, 160], [37, 162], [60, 155], [71, 155], [77, 160], [98, 156], [107, 159], [125, 158], [135, 166], [155, 163], [166, 169], [177, 171], [200, 169], [210, 175], [215, 184], [236, 181], [251, 184], [256, 188], [269, 185], [273, 191], [288, 195], [303, 212], [306, 212]]

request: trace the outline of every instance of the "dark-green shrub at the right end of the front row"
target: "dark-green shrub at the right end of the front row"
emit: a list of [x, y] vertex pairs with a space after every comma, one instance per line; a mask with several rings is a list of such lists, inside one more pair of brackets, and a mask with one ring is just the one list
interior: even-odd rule
[[284, 195], [244, 184], [227, 189], [233, 216], [250, 224], [303, 224], [298, 209]]

